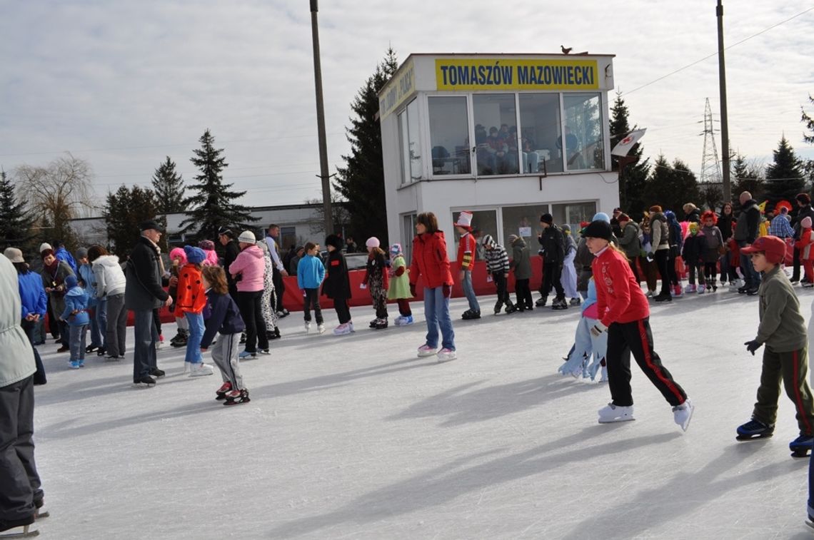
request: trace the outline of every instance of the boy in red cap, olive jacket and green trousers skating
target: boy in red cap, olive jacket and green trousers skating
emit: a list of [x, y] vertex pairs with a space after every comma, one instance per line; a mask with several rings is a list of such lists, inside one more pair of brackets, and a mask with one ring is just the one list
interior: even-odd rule
[[758, 290], [758, 333], [744, 345], [752, 355], [760, 346], [766, 348], [755, 410], [752, 419], [737, 428], [737, 440], [772, 436], [782, 380], [786, 395], [794, 402], [800, 429], [800, 436], [789, 447], [793, 455], [804, 457], [814, 442], [814, 400], [808, 385], [805, 320], [791, 282], [780, 268], [786, 256], [786, 242], [771, 235], [758, 237], [741, 253], [751, 256], [755, 272], [763, 272]]

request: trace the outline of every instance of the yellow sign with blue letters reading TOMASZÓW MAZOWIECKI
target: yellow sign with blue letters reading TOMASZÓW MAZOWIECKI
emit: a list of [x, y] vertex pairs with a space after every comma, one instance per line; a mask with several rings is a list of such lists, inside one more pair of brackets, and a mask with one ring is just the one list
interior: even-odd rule
[[596, 60], [435, 59], [439, 90], [599, 89]]

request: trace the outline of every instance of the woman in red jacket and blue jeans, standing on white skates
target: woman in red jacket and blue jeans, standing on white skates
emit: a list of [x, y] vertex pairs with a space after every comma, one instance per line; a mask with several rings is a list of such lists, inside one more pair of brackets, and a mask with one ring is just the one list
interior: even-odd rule
[[418, 356], [436, 355], [438, 329], [441, 329], [439, 362], [457, 358], [455, 332], [449, 317], [449, 297], [452, 296], [453, 275], [449, 272], [449, 257], [444, 233], [438, 230], [438, 219], [432, 212], [418, 214], [413, 239], [413, 263], [409, 269], [409, 289], [415, 296], [418, 277], [424, 281], [424, 318], [427, 319], [427, 342], [418, 347]]

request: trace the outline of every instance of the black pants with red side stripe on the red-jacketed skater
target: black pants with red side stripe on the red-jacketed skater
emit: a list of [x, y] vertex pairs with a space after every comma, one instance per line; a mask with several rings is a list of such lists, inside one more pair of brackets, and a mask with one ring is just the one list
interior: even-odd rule
[[610, 398], [617, 407], [630, 407], [633, 396], [630, 390], [630, 355], [625, 354], [630, 349], [641, 371], [645, 372], [667, 403], [673, 407], [681, 405], [687, 398], [684, 389], [672, 380], [659, 355], [653, 350], [653, 333], [650, 332], [650, 317], [634, 320], [632, 323], [613, 323], [608, 327], [608, 348], [606, 359], [608, 364], [608, 383], [610, 384]]

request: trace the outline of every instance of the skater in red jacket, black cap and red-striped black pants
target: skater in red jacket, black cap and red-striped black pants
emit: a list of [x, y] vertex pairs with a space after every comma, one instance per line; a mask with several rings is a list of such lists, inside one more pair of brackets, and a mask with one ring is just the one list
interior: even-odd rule
[[599, 423], [623, 422], [633, 418], [633, 397], [630, 389], [629, 348], [641, 371], [672, 405], [676, 424], [687, 430], [693, 416], [693, 404], [684, 390], [672, 380], [659, 355], [653, 350], [650, 332], [650, 307], [637, 284], [624, 253], [610, 244], [612, 231], [605, 221], [594, 221], [584, 229], [583, 236], [593, 253], [591, 264], [597, 285], [597, 312], [600, 317], [591, 333], [608, 333], [606, 362], [610, 398], [607, 407], [599, 410]]

